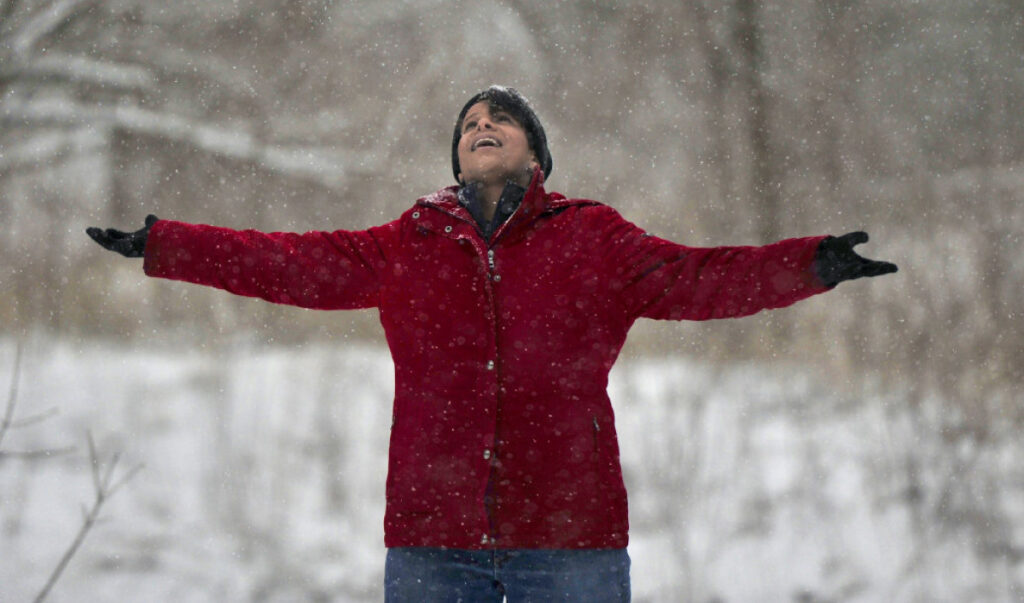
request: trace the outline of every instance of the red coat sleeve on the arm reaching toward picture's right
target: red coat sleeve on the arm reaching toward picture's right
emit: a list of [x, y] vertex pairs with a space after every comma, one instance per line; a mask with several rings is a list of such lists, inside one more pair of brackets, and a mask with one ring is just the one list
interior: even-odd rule
[[780, 308], [828, 289], [811, 264], [824, 236], [764, 247], [686, 247], [603, 207], [605, 265], [634, 318], [707, 320]]

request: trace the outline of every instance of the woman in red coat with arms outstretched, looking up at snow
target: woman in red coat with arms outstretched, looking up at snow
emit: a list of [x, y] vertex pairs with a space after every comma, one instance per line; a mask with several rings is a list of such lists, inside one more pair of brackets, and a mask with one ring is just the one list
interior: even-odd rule
[[515, 90], [469, 99], [457, 185], [359, 231], [262, 233], [150, 216], [90, 228], [145, 273], [318, 309], [377, 307], [395, 365], [388, 601], [628, 601], [608, 372], [640, 317], [737, 317], [894, 272], [862, 232], [690, 248], [544, 188]]

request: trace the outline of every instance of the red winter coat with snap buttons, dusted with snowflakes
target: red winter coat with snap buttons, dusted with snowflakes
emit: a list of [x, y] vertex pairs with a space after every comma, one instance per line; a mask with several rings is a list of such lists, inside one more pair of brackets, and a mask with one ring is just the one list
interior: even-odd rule
[[621, 548], [626, 489], [606, 386], [630, 326], [823, 292], [810, 269], [821, 238], [683, 247], [539, 180], [489, 242], [452, 186], [359, 231], [161, 220], [145, 272], [306, 308], [379, 309], [395, 368], [387, 547]]

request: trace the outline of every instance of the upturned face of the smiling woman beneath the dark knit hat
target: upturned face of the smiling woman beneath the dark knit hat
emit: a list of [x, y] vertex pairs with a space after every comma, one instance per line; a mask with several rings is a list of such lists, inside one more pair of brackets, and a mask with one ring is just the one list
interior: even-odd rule
[[501, 109], [492, 112], [486, 101], [466, 112], [458, 152], [462, 170], [459, 179], [463, 182], [528, 182], [538, 165], [519, 122]]

